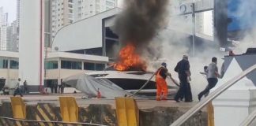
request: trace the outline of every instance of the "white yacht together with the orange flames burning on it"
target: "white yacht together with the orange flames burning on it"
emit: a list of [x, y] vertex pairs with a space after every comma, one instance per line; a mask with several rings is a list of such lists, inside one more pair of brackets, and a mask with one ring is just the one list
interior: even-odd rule
[[[154, 72], [147, 72], [147, 64], [135, 51], [135, 46], [128, 44], [119, 51], [119, 61], [104, 71], [91, 72], [88, 75], [107, 79], [125, 91], [138, 91], [150, 78]], [[168, 79], [167, 79], [168, 80]], [[169, 85], [169, 95], [175, 95], [177, 86]], [[138, 94], [141, 95], [156, 95], [155, 78], [149, 80], [149, 83]]]

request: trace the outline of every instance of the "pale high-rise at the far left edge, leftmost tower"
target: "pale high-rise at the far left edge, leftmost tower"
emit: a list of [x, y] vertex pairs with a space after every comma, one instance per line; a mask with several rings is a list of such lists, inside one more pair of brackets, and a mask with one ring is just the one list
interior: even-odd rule
[[0, 50], [6, 50], [8, 13], [3, 12], [3, 7], [0, 7], [0, 20]]

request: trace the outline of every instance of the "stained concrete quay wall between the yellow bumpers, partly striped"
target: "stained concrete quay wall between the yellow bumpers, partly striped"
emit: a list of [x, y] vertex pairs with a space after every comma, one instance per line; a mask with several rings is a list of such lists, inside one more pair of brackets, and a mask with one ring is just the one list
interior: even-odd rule
[[[86, 101], [87, 102], [87, 101]], [[81, 102], [78, 102], [81, 106]], [[183, 115], [189, 107], [155, 107], [151, 109], [140, 109], [140, 126], [169, 126], [174, 120]], [[3, 102], [0, 106], [0, 117], [13, 117], [10, 102]], [[27, 120], [58, 120], [62, 121], [58, 103], [34, 103], [27, 104]], [[79, 107], [78, 121], [92, 124], [104, 124], [108, 126], [117, 125], [115, 109], [110, 104], [88, 104]], [[186, 120], [182, 126], [206, 126], [207, 112], [202, 111], [194, 114]], [[0, 120], [0, 125], [13, 126], [13, 121]], [[27, 125], [39, 125], [36, 123]], [[49, 124], [50, 125], [50, 124]]]

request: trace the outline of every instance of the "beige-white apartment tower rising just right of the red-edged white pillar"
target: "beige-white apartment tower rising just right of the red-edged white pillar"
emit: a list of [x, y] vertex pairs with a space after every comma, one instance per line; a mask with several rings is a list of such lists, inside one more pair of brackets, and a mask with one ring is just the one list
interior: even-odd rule
[[52, 0], [51, 1], [51, 25], [52, 35], [55, 37], [57, 31], [74, 20], [74, 1], [76, 0]]

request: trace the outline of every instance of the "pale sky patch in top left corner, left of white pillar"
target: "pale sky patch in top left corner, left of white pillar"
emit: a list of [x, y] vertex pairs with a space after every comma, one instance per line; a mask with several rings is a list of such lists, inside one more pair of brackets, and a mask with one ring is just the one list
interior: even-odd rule
[[8, 23], [16, 20], [16, 2], [17, 0], [0, 0], [0, 7], [3, 7], [4, 13], [8, 13]]

